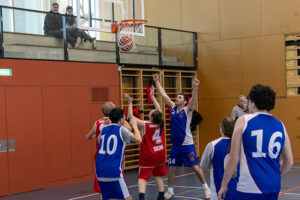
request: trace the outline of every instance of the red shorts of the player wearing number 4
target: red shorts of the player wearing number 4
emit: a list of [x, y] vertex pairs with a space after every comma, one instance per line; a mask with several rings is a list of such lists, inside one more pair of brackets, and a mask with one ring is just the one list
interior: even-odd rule
[[153, 176], [166, 176], [168, 174], [167, 165], [162, 164], [155, 167], [139, 166], [139, 179], [148, 180], [151, 174], [153, 174]]

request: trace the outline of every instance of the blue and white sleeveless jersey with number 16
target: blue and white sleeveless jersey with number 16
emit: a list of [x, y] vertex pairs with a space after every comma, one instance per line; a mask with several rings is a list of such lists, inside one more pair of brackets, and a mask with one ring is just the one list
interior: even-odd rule
[[240, 177], [237, 190], [243, 193], [280, 191], [279, 157], [285, 142], [283, 123], [268, 113], [243, 116]]

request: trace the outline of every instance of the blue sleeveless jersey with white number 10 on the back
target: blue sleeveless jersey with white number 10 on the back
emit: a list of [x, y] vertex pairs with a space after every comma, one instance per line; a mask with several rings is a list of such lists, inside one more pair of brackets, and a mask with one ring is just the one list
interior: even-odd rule
[[111, 124], [102, 129], [99, 150], [96, 159], [96, 175], [98, 178], [120, 178], [126, 147], [121, 136], [121, 126]]

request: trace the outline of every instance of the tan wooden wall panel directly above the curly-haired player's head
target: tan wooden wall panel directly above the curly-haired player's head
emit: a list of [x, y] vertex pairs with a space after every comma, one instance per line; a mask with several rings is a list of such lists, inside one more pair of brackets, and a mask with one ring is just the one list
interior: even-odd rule
[[286, 95], [283, 35], [242, 39], [243, 93], [257, 83], [270, 85], [277, 96]]

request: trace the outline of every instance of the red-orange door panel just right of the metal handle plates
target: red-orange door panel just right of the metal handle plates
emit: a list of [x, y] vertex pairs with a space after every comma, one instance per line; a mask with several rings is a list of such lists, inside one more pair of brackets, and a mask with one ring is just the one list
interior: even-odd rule
[[9, 152], [10, 193], [45, 187], [42, 90], [7, 87], [7, 135], [15, 139]]

